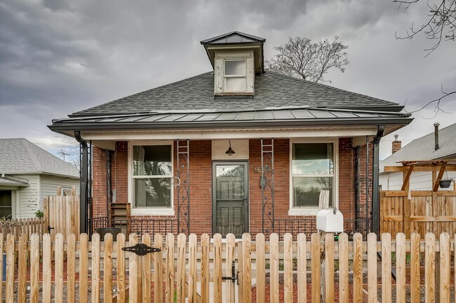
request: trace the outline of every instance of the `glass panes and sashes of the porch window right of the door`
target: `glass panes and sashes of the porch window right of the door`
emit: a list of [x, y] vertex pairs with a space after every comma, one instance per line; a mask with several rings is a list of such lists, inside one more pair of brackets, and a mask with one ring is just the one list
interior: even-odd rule
[[321, 190], [329, 190], [334, 205], [335, 143], [293, 143], [291, 155], [292, 209], [318, 209]]

